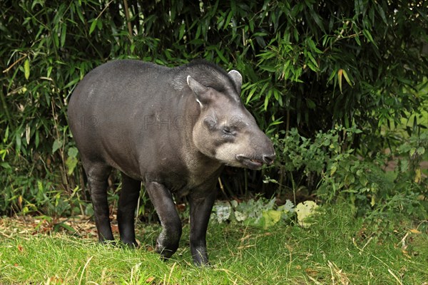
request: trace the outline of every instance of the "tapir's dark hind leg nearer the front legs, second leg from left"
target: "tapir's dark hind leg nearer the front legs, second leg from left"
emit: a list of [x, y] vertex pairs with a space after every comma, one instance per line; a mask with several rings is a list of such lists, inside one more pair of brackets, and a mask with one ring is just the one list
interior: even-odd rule
[[118, 227], [121, 241], [130, 247], [137, 247], [134, 216], [140, 196], [141, 182], [133, 180], [122, 172], [122, 190], [118, 206]]

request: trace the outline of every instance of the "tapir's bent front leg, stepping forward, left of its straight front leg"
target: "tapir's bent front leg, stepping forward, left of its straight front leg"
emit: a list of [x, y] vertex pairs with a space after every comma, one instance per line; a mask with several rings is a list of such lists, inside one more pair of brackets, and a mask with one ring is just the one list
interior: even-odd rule
[[178, 249], [181, 237], [181, 221], [170, 191], [158, 182], [146, 182], [148, 196], [155, 206], [162, 224], [162, 232], [156, 242], [156, 252], [169, 258]]

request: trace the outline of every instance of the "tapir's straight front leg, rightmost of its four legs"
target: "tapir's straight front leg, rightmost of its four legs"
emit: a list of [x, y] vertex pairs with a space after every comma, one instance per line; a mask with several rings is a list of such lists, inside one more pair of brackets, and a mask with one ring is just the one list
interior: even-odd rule
[[195, 265], [208, 264], [206, 233], [215, 200], [215, 187], [190, 194], [190, 251]]

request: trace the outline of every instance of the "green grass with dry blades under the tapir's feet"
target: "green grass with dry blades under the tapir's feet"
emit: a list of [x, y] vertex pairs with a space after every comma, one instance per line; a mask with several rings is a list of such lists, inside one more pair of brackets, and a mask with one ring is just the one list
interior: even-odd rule
[[161, 261], [149, 250], [157, 226], [141, 228], [143, 247], [131, 250], [66, 233], [20, 233], [7, 218], [0, 220], [0, 284], [427, 284], [426, 224], [420, 232], [398, 220], [370, 225], [346, 205], [325, 207], [316, 221], [267, 230], [211, 223], [212, 266], [196, 268], [188, 224], [173, 259]]

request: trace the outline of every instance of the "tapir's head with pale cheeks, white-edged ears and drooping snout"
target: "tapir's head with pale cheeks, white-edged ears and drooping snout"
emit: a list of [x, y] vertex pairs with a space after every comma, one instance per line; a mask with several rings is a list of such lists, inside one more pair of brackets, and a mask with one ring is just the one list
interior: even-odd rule
[[259, 169], [272, 164], [275, 159], [272, 142], [240, 100], [242, 76], [238, 71], [221, 76], [223, 84], [214, 87], [187, 77], [188, 87], [200, 108], [193, 128], [195, 146], [225, 165]]

